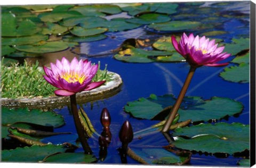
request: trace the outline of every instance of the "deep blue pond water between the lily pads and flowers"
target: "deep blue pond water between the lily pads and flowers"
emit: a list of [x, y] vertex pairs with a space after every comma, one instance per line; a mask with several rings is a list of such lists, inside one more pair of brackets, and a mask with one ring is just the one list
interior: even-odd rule
[[[179, 4], [177, 13], [182, 14], [185, 11], [186, 6], [182, 3]], [[199, 8], [210, 7], [210, 11], [203, 13], [203, 18], [211, 16], [214, 3], [206, 2]], [[249, 2], [234, 2], [228, 3], [228, 5], [219, 6], [221, 9], [218, 11], [221, 15], [214, 15], [218, 17], [215, 22], [222, 22], [221, 26], [211, 28], [211, 31], [221, 30], [226, 31], [220, 35], [210, 36], [211, 38], [222, 39], [223, 43], [231, 43], [233, 38], [249, 38]], [[230, 16], [224, 17], [223, 15], [229, 14]], [[232, 15], [233, 14], [233, 15]], [[239, 17], [239, 14], [245, 16]], [[119, 14], [118, 17], [127, 16], [127, 13]], [[174, 15], [174, 14], [173, 14]], [[115, 16], [114, 16], [115, 17]], [[178, 16], [177, 16], [178, 17]], [[186, 16], [184, 16], [186, 17]], [[108, 18], [109, 19], [109, 18]], [[189, 20], [185, 18], [184, 20]], [[194, 19], [191, 18], [191, 21]], [[209, 30], [209, 31], [210, 31]], [[193, 30], [195, 34], [203, 34], [205, 30]], [[183, 31], [182, 31], [183, 32]], [[181, 34], [182, 32], [178, 32]], [[132, 30], [121, 32], [106, 32], [108, 37], [103, 40], [93, 41], [88, 43], [81, 43], [79, 52], [75, 49], [73, 53], [79, 55], [82, 58], [87, 58], [94, 63], [101, 62], [101, 65], [107, 64], [108, 71], [118, 73], [121, 75], [123, 85], [121, 91], [115, 96], [97, 100], [91, 103], [83, 104], [83, 108], [86, 114], [89, 116], [95, 130], [98, 133], [102, 131], [102, 125], [100, 123], [100, 114], [102, 108], [106, 107], [111, 115], [110, 131], [112, 133], [112, 139], [108, 146], [108, 155], [105, 161], [98, 163], [121, 163], [120, 156], [118, 154], [118, 148], [121, 147], [121, 142], [118, 138], [119, 129], [121, 128], [125, 120], [129, 120], [132, 125], [133, 131], [139, 131], [146, 129], [151, 125], [158, 123], [159, 121], [137, 119], [131, 114], [124, 111], [124, 106], [127, 102], [138, 100], [141, 97], [149, 97], [150, 94], [162, 96], [165, 94], [173, 94], [174, 97], [178, 97], [183, 82], [187, 77], [189, 71], [189, 64], [187, 62], [179, 63], [127, 63], [118, 61], [113, 58], [113, 49], [121, 46], [123, 41], [130, 38], [140, 39], [158, 39], [162, 36], [170, 36], [173, 32], [168, 31], [156, 31], [146, 26], [141, 26]], [[176, 33], [176, 32], [175, 32]], [[151, 47], [147, 47], [151, 49]], [[233, 60], [235, 56], [230, 56], [224, 62]], [[42, 59], [42, 58], [41, 58]], [[52, 58], [54, 60], [54, 58]], [[40, 59], [39, 59], [40, 60]], [[42, 61], [42, 60], [41, 60]], [[43, 62], [43, 61], [42, 61]], [[45, 64], [45, 63], [43, 63]], [[230, 63], [230, 65], [235, 65]], [[243, 124], [249, 124], [249, 83], [238, 83], [223, 80], [219, 74], [225, 69], [225, 67], [209, 67], [202, 66], [198, 68], [190, 83], [186, 96], [199, 96], [203, 99], [211, 99], [213, 96], [231, 98], [243, 104], [243, 111], [239, 115], [229, 116], [227, 120], [221, 119], [217, 122], [239, 122]], [[63, 142], [70, 142], [76, 144], [77, 134], [75, 130], [75, 124], [71, 112], [67, 106], [59, 109], [54, 109], [54, 112], [63, 115], [66, 124], [63, 127], [54, 129], [55, 132], [73, 132], [71, 135], [59, 135], [52, 136], [43, 139], [43, 142], [52, 142], [53, 144], [62, 144]], [[205, 122], [207, 123], [207, 122]], [[98, 139], [89, 139], [89, 144], [93, 150], [93, 154], [98, 157], [99, 145]], [[150, 136], [145, 136], [142, 139], [134, 139], [129, 147], [132, 149], [141, 148], [162, 148], [162, 146], [169, 145], [167, 139], [162, 133], [154, 133]], [[75, 152], [83, 152], [83, 148], [78, 148]], [[150, 156], [149, 156], [150, 157]], [[152, 156], [153, 157], [153, 156]], [[214, 155], [207, 155], [201, 153], [193, 153], [189, 164], [191, 165], [236, 165], [241, 157], [234, 157], [229, 155], [227, 157], [217, 157]], [[139, 164], [134, 159], [128, 157], [127, 162], [129, 164]]]

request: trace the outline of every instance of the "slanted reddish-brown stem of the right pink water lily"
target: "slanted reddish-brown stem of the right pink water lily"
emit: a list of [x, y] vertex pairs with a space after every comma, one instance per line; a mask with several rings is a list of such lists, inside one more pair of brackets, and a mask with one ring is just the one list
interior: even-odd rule
[[178, 96], [174, 106], [172, 107], [172, 110], [171, 110], [171, 112], [169, 114], [169, 117], [168, 117], [167, 121], [165, 122], [164, 127], [162, 129], [162, 132], [169, 131], [169, 128], [170, 128], [170, 126], [172, 124], [172, 121], [174, 120], [174, 117], [175, 117], [175, 115], [177, 114], [177, 112], [178, 112], [178, 110], [180, 108], [181, 102], [182, 102], [182, 100], [183, 100], [183, 98], [184, 98], [184, 96], [185, 96], [185, 94], [187, 92], [188, 86], [190, 84], [190, 81], [191, 81], [195, 71], [196, 71], [196, 68], [194, 68], [193, 66], [190, 66], [190, 69], [189, 69], [186, 81], [185, 81], [185, 83], [184, 83], [184, 85], [183, 85], [183, 87], [182, 87], [182, 89], [180, 91], [180, 94], [179, 94], [179, 96]]

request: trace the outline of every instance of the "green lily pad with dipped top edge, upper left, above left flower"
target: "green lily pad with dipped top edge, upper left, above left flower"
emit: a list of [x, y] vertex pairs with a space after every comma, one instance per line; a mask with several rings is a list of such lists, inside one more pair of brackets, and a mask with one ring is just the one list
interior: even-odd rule
[[84, 36], [93, 36], [98, 35], [103, 32], [106, 32], [107, 28], [91, 28], [91, 29], [84, 29], [82, 27], [74, 27], [72, 30], [69, 30], [73, 35], [84, 37]]

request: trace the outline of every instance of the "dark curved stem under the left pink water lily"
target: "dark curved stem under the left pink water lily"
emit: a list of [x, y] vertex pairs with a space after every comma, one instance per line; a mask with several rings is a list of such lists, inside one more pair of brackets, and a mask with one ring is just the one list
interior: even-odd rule
[[70, 96], [70, 103], [71, 103], [71, 111], [72, 111], [75, 125], [76, 125], [76, 131], [77, 131], [79, 140], [81, 141], [84, 152], [85, 154], [92, 154], [92, 150], [87, 142], [84, 128], [82, 127], [82, 124], [79, 120], [77, 104], [76, 104], [76, 94]]

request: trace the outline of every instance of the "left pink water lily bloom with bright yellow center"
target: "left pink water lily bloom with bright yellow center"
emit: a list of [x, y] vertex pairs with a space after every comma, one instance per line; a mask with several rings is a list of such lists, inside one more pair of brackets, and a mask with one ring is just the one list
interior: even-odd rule
[[74, 57], [69, 62], [65, 57], [61, 62], [51, 63], [51, 69], [45, 66], [44, 79], [52, 86], [59, 89], [54, 93], [57, 96], [70, 96], [84, 90], [91, 90], [101, 86], [105, 81], [92, 82], [92, 78], [97, 73], [98, 65], [91, 65], [88, 60], [80, 60]]

